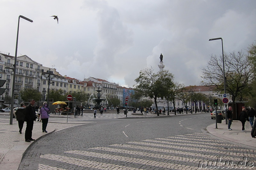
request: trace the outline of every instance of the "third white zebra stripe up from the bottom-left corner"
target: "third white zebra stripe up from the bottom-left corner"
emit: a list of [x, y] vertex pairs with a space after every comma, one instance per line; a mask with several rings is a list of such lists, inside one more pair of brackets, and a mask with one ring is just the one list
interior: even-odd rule
[[157, 162], [153, 160], [146, 160], [146, 159], [137, 159], [137, 158], [129, 158], [124, 156], [118, 156], [118, 155], [110, 155], [110, 154], [104, 154], [104, 153], [96, 153], [96, 152], [87, 152], [87, 151], [66, 151], [65, 153], [73, 153], [73, 154], [79, 154], [79, 155], [85, 155], [90, 157], [96, 157], [96, 158], [104, 158], [104, 159], [111, 159], [111, 160], [117, 160], [117, 161], [125, 161], [130, 163], [137, 163], [137, 164], [143, 164], [143, 165], [150, 165], [150, 166], [156, 166], [156, 167], [164, 167], [164, 168], [174, 168], [174, 169], [191, 169], [191, 168], [198, 168], [193, 166], [186, 166], [186, 165], [179, 165], [179, 164], [173, 164], [173, 163], [166, 163], [166, 162]]

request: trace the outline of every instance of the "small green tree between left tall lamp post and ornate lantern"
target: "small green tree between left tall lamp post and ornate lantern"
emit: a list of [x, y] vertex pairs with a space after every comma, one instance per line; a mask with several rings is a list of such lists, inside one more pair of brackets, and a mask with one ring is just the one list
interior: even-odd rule
[[38, 92], [36, 87], [23, 88], [20, 91], [20, 97], [23, 101], [28, 101], [28, 99], [40, 101], [42, 98], [42, 93]]

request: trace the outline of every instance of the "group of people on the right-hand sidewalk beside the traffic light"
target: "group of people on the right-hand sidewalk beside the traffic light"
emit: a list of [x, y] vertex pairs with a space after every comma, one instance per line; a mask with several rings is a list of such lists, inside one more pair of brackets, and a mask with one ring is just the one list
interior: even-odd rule
[[[240, 112], [239, 114], [238, 120], [242, 123], [242, 131], [245, 131], [245, 128], [244, 128], [245, 122], [246, 121], [250, 122], [250, 125], [252, 127], [251, 136], [253, 138], [256, 138], [256, 119], [253, 123], [254, 117], [256, 117], [256, 112], [253, 108], [248, 110], [243, 108], [242, 112]], [[231, 129], [232, 118], [233, 118], [232, 107], [229, 106], [227, 110], [228, 130], [232, 130]]]

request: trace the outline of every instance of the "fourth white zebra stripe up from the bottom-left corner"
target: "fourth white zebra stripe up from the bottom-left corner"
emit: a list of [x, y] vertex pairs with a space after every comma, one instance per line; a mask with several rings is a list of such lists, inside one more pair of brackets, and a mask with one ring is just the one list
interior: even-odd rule
[[125, 153], [125, 154], [131, 154], [131, 155], [141, 155], [141, 156], [147, 156], [152, 158], [161, 158], [161, 159], [169, 159], [169, 160], [178, 160], [178, 161], [185, 161], [185, 162], [200, 162], [204, 161], [203, 159], [190, 159], [187, 157], [177, 157], [177, 156], [171, 156], [171, 155], [163, 155], [163, 154], [157, 154], [157, 153], [149, 153], [149, 152], [140, 152], [140, 151], [131, 151], [131, 150], [124, 150], [124, 149], [115, 149], [115, 148], [108, 148], [108, 147], [95, 147], [90, 148], [94, 150], [100, 150], [100, 151], [108, 151], [108, 152], [118, 152], [118, 153]]

